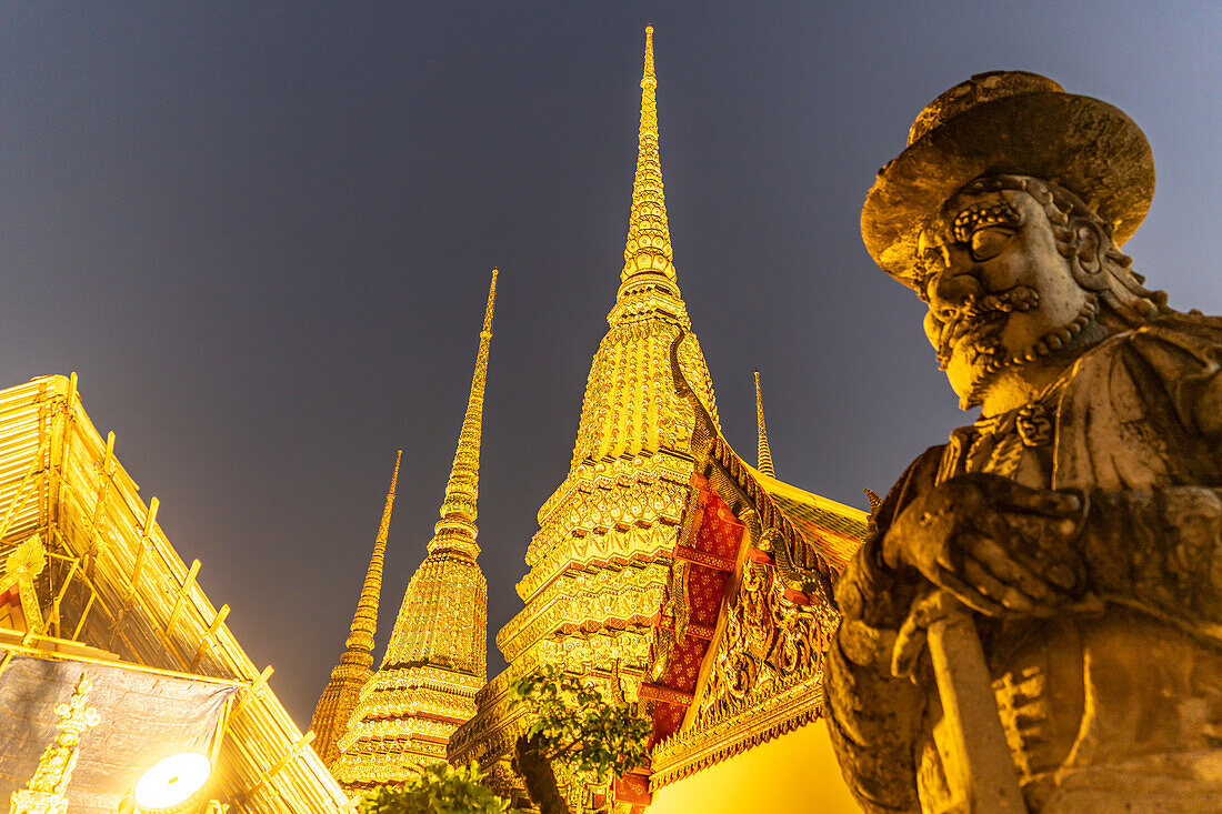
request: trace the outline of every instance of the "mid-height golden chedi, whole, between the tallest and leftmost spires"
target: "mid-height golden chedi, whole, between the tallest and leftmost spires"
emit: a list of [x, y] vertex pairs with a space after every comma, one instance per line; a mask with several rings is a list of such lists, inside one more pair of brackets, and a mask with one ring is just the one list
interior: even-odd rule
[[492, 339], [496, 270], [441, 519], [407, 585], [381, 666], [365, 682], [332, 771], [347, 788], [402, 782], [445, 759], [453, 731], [475, 714], [486, 678], [488, 583], [475, 562], [479, 445]]

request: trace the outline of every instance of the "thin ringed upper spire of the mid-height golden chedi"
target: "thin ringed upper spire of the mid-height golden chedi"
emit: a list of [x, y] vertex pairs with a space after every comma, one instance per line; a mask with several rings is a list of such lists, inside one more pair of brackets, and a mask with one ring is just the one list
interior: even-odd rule
[[475, 353], [475, 373], [470, 379], [470, 396], [467, 416], [458, 434], [458, 450], [450, 468], [446, 497], [441, 504], [441, 519], [434, 527], [429, 552], [437, 549], [479, 554], [475, 535], [475, 501], [479, 497], [479, 439], [484, 423], [484, 383], [488, 379], [488, 353], [492, 341], [492, 306], [496, 302], [496, 275], [488, 288], [488, 306], [484, 309], [484, 330], [479, 334], [479, 351]]

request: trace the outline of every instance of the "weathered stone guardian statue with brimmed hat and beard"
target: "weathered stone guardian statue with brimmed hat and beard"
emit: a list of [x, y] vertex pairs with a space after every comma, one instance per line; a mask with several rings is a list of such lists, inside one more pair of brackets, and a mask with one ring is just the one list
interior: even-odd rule
[[980, 416], [836, 588], [825, 708], [868, 812], [991, 814], [1007, 785], [1011, 810], [1222, 810], [1222, 319], [1121, 252], [1154, 182], [1122, 111], [1012, 71], [926, 106], [866, 197], [866, 248]]

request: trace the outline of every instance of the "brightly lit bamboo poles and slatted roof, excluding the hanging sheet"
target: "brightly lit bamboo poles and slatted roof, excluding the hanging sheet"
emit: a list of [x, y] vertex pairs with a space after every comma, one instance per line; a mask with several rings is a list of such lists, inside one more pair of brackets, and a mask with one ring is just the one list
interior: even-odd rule
[[[49, 570], [45, 599], [56, 600], [51, 618], [72, 640], [108, 645], [141, 669], [248, 688], [227, 716], [215, 764], [218, 794], [235, 814], [349, 810], [268, 684], [271, 673], [229, 629], [229, 605], [209, 601], [198, 561], [188, 567], [177, 555], [155, 522], [158, 501], [145, 505], [114, 450], [114, 434], [104, 440], [94, 429], [75, 378], [0, 390], [0, 554], [44, 535], [48, 555], [65, 563]], [[16, 651], [0, 649], [5, 659]]]

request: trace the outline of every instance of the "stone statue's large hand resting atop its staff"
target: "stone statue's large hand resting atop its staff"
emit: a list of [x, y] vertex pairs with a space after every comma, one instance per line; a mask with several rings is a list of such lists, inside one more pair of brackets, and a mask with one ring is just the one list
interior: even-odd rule
[[1085, 516], [1079, 493], [960, 475], [904, 508], [884, 537], [882, 559], [986, 616], [1050, 616], [1080, 587], [1074, 540]]

